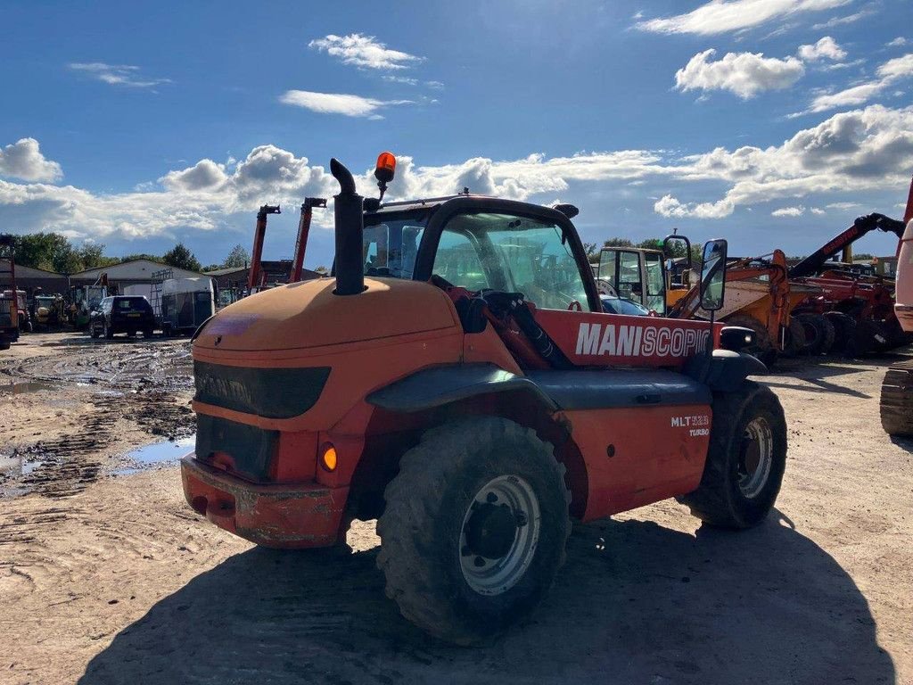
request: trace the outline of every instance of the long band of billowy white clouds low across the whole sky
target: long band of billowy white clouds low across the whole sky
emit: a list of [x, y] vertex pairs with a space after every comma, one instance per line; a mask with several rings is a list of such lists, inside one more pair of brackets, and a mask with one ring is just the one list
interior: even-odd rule
[[[866, 191], [896, 189], [900, 195], [909, 184], [910, 159], [913, 107], [873, 105], [835, 114], [777, 146], [720, 147], [685, 157], [621, 150], [420, 166], [399, 155], [388, 195], [449, 195], [468, 186], [474, 193], [544, 202], [555, 196], [573, 201], [587, 188], [600, 194], [614, 189], [660, 198], [654, 209], [661, 216], [719, 219], [775, 201], [807, 207], [814, 201], [804, 198], [824, 193], [835, 200], [841, 193], [855, 198]], [[353, 169], [365, 193], [375, 184], [372, 171]], [[644, 185], [634, 191], [628, 187], [632, 183]], [[708, 197], [707, 188], [720, 185], [725, 188], [721, 195]], [[202, 159], [163, 174], [153, 187], [149, 192], [97, 194], [72, 185], [0, 181], [0, 225], [20, 232], [75, 231], [95, 239], [152, 237], [179, 228], [212, 231], [224, 227], [227, 216], [255, 211], [264, 202], [295, 205], [305, 196], [336, 192], [324, 165], [275, 145], [260, 145], [237, 163]], [[323, 212], [315, 222], [328, 226], [331, 217]]]

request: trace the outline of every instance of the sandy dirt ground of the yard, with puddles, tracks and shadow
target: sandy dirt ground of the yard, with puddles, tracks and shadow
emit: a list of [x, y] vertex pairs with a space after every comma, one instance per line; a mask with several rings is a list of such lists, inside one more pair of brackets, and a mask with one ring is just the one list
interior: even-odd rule
[[[777, 511], [749, 532], [674, 501], [575, 527], [542, 606], [451, 648], [352, 553], [261, 550], [201, 520], [136, 446], [193, 431], [187, 342], [26, 336], [0, 356], [0, 683], [913, 683], [913, 443], [885, 359], [783, 364]], [[32, 385], [4, 385], [11, 383]]]

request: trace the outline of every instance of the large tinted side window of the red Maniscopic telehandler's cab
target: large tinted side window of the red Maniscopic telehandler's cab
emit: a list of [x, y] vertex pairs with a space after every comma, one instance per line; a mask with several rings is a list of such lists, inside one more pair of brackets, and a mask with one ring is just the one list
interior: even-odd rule
[[432, 273], [467, 290], [521, 292], [542, 309], [589, 309], [561, 227], [525, 216], [476, 213], [450, 219]]

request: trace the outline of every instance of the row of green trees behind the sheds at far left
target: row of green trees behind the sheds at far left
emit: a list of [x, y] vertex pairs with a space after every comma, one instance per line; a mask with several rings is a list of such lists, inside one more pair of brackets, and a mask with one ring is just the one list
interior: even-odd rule
[[72, 274], [86, 269], [99, 269], [134, 259], [151, 259], [175, 269], [188, 271], [212, 271], [215, 269], [245, 268], [250, 264], [247, 249], [236, 245], [217, 264], [203, 266], [184, 243], [178, 243], [162, 255], [135, 253], [124, 257], [108, 257], [101, 243], [83, 243], [74, 246], [69, 238], [58, 233], [31, 233], [27, 236], [13, 236], [16, 249], [16, 264], [33, 269], [44, 269], [62, 274]]

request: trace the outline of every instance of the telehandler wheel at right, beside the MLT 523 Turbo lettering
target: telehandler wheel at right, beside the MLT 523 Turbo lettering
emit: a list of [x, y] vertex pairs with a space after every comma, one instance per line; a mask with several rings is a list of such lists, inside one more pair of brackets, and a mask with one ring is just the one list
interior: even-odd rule
[[722, 528], [760, 523], [780, 492], [786, 469], [786, 419], [770, 388], [746, 381], [717, 394], [704, 474], [698, 490], [678, 498], [703, 522]]

